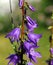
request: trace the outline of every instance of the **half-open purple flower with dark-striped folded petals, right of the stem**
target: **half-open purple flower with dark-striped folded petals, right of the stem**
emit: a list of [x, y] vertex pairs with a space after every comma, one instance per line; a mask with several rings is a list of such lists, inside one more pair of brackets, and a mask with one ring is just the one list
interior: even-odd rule
[[38, 24], [36, 23], [36, 20], [32, 20], [29, 16], [26, 16], [26, 27], [28, 31], [33, 31], [34, 28], [38, 27]]

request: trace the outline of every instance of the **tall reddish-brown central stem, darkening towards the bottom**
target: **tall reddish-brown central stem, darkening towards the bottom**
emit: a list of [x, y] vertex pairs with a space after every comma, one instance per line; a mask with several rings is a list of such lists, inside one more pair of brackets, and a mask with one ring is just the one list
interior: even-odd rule
[[22, 5], [22, 26], [21, 26], [21, 65], [23, 65], [23, 39], [24, 39], [24, 0]]

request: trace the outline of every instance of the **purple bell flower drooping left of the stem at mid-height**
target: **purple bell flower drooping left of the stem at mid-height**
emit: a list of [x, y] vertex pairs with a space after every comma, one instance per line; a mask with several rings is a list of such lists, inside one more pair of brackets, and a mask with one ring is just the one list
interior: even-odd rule
[[20, 28], [13, 29], [10, 33], [6, 35], [6, 38], [10, 38], [12, 42], [18, 41], [20, 37]]

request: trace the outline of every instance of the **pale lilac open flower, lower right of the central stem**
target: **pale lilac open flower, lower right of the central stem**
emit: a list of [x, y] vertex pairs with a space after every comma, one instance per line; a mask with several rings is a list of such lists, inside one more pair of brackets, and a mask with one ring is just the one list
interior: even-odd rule
[[41, 55], [39, 52], [35, 52], [34, 48], [30, 49], [30, 52], [27, 53], [27, 56], [30, 60], [33, 60], [34, 62], [37, 62], [36, 57], [41, 58]]

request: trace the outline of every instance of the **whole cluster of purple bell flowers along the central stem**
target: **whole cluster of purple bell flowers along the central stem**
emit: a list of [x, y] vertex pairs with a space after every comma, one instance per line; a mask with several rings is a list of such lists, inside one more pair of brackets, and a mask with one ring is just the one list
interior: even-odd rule
[[[35, 8], [29, 5], [27, 2], [24, 2], [26, 6], [31, 10], [35, 11]], [[19, 0], [19, 7], [22, 9], [23, 0]], [[24, 5], [24, 11], [26, 11], [26, 7]], [[34, 28], [38, 27], [36, 20], [33, 20], [30, 16], [24, 13], [24, 24], [26, 25], [26, 30], [24, 31], [24, 39], [21, 39], [21, 28], [15, 28], [11, 32], [9, 32], [5, 37], [9, 38], [12, 45], [15, 41], [19, 42], [19, 48], [14, 49], [16, 52], [15, 54], [11, 54], [7, 59], [10, 59], [8, 65], [13, 63], [13, 65], [21, 63], [21, 54], [26, 54], [29, 58], [29, 62], [26, 61], [26, 65], [33, 65], [32, 61], [37, 62], [36, 58], [41, 58], [40, 52], [36, 52], [35, 49], [39, 46], [37, 45], [39, 39], [42, 37], [41, 34], [35, 34]], [[22, 43], [22, 45], [21, 45]], [[20, 52], [20, 50], [23, 52]], [[17, 51], [19, 50], [19, 52]], [[24, 62], [24, 60], [22, 61]]]

